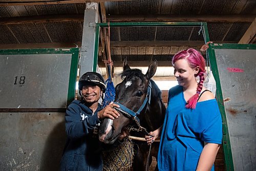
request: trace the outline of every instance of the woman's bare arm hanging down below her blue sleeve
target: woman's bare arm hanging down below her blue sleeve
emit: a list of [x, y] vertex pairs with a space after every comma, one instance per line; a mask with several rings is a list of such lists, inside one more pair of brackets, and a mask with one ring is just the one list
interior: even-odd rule
[[212, 165], [214, 165], [214, 161], [219, 149], [220, 144], [205, 142], [203, 151], [199, 158], [197, 171], [210, 170]]

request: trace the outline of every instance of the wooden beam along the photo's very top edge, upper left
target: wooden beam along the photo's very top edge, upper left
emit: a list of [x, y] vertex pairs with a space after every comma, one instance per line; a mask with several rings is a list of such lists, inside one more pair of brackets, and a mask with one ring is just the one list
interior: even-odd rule
[[2, 0], [0, 7], [4, 6], [20, 6], [20, 5], [52, 5], [52, 4], [77, 4], [77, 3], [100, 3], [100, 2], [115, 2], [115, 1], [134, 1], [134, 0], [25, 0], [18, 2], [17, 0]]

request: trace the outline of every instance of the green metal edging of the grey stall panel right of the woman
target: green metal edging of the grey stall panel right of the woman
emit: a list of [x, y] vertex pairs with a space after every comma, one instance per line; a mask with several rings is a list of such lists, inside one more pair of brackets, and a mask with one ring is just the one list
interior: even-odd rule
[[223, 149], [224, 149], [224, 157], [225, 157], [225, 164], [227, 170], [234, 170], [233, 166], [233, 159], [232, 159], [232, 152], [231, 152], [231, 145], [229, 140], [229, 133], [228, 133], [228, 127], [227, 127], [227, 119], [226, 119], [226, 113], [225, 113], [225, 107], [223, 102], [223, 96], [222, 96], [222, 90], [221, 90], [221, 83], [220, 83], [220, 77], [219, 77], [219, 71], [217, 67], [217, 61], [216, 61], [216, 55], [214, 49], [256, 49], [256, 45], [249, 45], [249, 44], [209, 44], [209, 60], [211, 67], [214, 68], [212, 70], [212, 74], [214, 74], [215, 80], [216, 80], [216, 97], [218, 101], [218, 105], [220, 108], [220, 112], [222, 115], [222, 122], [223, 122]]

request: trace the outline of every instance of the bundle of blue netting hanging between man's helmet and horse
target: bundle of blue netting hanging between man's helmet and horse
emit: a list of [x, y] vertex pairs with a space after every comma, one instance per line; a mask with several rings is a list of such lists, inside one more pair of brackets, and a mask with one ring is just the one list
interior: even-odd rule
[[108, 79], [106, 79], [106, 92], [105, 92], [105, 97], [103, 100], [103, 108], [108, 105], [111, 101], [115, 100], [115, 96], [116, 96], [116, 90], [114, 87], [114, 83], [111, 80], [111, 72], [110, 72], [110, 66], [108, 66], [109, 69], [109, 75], [110, 77]]

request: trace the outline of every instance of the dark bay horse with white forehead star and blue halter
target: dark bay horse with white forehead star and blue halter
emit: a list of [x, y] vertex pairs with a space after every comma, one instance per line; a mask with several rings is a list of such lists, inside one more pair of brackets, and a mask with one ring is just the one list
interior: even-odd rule
[[[99, 128], [99, 139], [107, 144], [112, 144], [127, 126], [145, 128], [141, 132], [131, 131], [130, 135], [145, 137], [145, 134], [158, 129], [164, 121], [165, 106], [162, 102], [161, 91], [156, 83], [151, 80], [157, 69], [157, 61], [148, 66], [144, 75], [141, 70], [131, 69], [126, 59], [123, 63], [123, 81], [116, 86], [115, 102], [126, 108], [126, 114], [120, 113], [120, 117], [115, 120], [104, 119]], [[121, 108], [121, 107], [120, 107]], [[133, 112], [137, 111], [137, 112]], [[131, 112], [131, 115], [127, 113]], [[135, 116], [134, 116], [135, 115]], [[135, 124], [137, 122], [137, 124]], [[146, 141], [133, 140], [135, 156], [133, 160], [133, 170], [145, 170], [147, 155], [150, 146]], [[157, 158], [159, 142], [154, 142], [151, 147], [151, 155], [148, 165], [152, 162], [152, 156]]]

